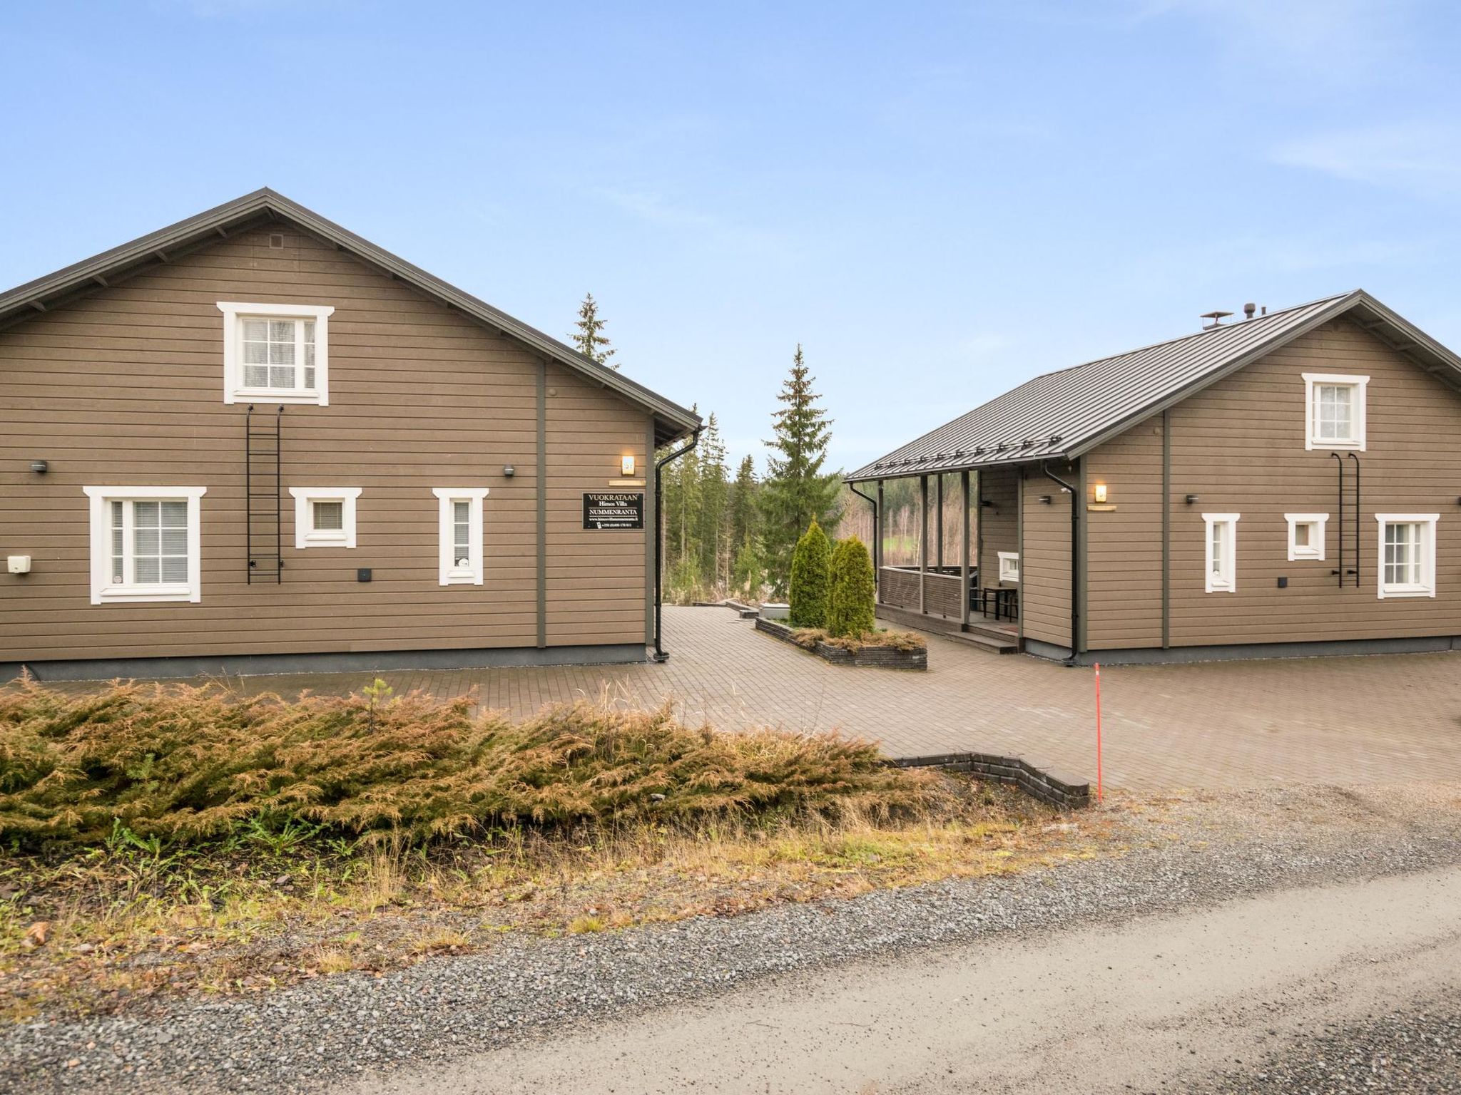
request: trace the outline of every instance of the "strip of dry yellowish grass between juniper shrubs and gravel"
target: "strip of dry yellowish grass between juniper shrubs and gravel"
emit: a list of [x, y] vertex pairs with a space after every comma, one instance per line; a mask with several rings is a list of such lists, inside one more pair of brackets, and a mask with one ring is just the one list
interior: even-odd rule
[[[875, 888], [977, 877], [1105, 854], [1004, 788], [942, 777], [920, 819], [722, 819], [694, 828], [500, 831], [431, 850], [215, 848], [155, 861], [130, 848], [0, 869], [3, 1015], [123, 1010], [159, 994], [237, 994], [345, 969], [383, 972], [481, 950], [504, 931], [593, 933], [736, 915]], [[37, 921], [47, 942], [26, 945]]]

